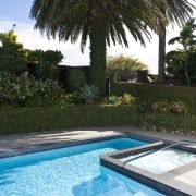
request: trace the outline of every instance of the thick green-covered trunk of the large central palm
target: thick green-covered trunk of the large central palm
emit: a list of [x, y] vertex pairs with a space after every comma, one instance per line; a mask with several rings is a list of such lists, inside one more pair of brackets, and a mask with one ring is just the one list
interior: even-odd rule
[[96, 21], [89, 34], [90, 39], [90, 71], [89, 81], [99, 88], [100, 95], [106, 96], [106, 36], [105, 27]]

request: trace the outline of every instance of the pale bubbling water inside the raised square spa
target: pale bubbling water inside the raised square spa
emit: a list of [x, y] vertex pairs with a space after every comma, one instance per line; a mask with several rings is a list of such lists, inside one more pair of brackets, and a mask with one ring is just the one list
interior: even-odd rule
[[[126, 161], [134, 157], [127, 157], [121, 160]], [[127, 163], [156, 174], [162, 174], [167, 171], [188, 164], [195, 160], [195, 154], [174, 148], [167, 148], [146, 155], [144, 157], [138, 157], [137, 159], [131, 160]]]

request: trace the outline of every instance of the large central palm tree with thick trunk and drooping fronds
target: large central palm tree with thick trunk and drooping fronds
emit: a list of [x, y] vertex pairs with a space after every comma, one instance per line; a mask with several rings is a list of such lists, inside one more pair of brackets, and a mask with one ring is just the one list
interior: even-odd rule
[[151, 30], [157, 33], [155, 15], [167, 23], [160, 8], [167, 9], [166, 0], [35, 0], [30, 17], [48, 38], [58, 36], [73, 44], [81, 38], [82, 51], [89, 38], [90, 82], [105, 95], [107, 44], [112, 40], [128, 47], [126, 27], [145, 46], [144, 37], [150, 39]]

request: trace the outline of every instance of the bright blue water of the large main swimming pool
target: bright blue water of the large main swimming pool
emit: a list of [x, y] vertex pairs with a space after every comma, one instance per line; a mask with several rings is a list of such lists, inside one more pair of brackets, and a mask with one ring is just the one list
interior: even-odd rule
[[100, 167], [102, 154], [145, 145], [118, 138], [0, 159], [1, 196], [159, 196]]

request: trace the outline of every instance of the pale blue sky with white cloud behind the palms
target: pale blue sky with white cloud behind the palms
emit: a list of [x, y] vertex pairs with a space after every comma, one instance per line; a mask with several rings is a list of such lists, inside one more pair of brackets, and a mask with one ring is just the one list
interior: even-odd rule
[[[8, 33], [14, 26], [17, 35], [17, 42], [30, 50], [60, 50], [64, 56], [61, 64], [64, 65], [89, 65], [89, 45], [86, 46], [84, 53], [81, 52], [81, 41], [76, 44], [59, 42], [58, 38], [49, 39], [34, 29], [35, 21], [29, 19], [30, 8], [34, 0], [0, 0], [0, 33]], [[173, 37], [179, 36], [181, 28], [175, 26], [167, 29], [167, 42]], [[149, 73], [158, 73], [158, 36], [152, 35], [150, 42], [146, 40], [146, 47], [136, 42], [127, 33], [128, 48], [120, 45], [107, 48], [107, 56], [132, 57], [148, 65]], [[174, 50], [177, 45], [167, 45], [166, 51]]]

